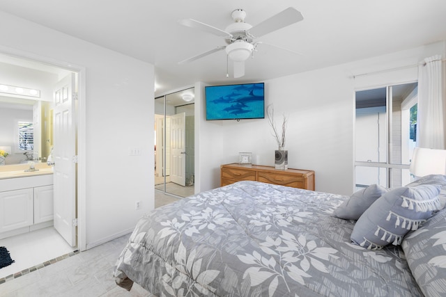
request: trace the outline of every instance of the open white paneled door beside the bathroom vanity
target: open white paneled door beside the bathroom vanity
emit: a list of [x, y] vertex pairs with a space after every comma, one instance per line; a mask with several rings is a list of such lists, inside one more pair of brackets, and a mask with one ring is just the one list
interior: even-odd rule
[[76, 122], [75, 74], [54, 89], [54, 228], [76, 246]]

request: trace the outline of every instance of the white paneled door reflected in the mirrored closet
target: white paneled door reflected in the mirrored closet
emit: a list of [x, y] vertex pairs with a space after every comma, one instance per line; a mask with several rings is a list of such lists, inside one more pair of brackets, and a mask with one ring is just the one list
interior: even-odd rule
[[171, 172], [170, 180], [186, 185], [186, 114], [177, 113], [170, 117], [171, 125]]

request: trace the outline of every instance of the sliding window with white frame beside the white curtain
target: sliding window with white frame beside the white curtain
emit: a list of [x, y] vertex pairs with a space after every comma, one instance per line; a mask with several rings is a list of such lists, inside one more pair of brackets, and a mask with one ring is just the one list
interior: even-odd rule
[[356, 92], [355, 186], [394, 188], [411, 182], [417, 83]]

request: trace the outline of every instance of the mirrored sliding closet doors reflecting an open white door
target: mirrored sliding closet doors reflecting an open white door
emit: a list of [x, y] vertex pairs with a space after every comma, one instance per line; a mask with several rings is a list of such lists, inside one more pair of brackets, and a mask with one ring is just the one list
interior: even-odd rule
[[155, 98], [155, 191], [194, 194], [194, 88]]

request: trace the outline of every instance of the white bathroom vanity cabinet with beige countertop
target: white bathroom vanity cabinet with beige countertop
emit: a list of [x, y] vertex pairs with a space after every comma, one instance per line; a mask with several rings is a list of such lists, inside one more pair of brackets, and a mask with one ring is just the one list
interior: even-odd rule
[[45, 163], [0, 166], [0, 239], [53, 225], [53, 172]]

